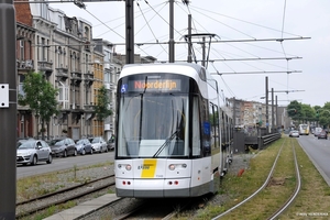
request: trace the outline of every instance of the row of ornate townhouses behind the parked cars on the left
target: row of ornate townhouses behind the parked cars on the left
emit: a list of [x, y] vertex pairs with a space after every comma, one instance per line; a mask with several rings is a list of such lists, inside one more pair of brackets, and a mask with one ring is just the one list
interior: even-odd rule
[[[108, 40], [92, 38], [92, 24], [68, 18], [46, 2], [14, 3], [16, 15], [18, 92], [29, 72], [43, 74], [58, 89], [58, 110], [47, 128], [48, 139], [68, 135], [74, 140], [114, 134], [114, 113], [100, 122], [94, 107], [97, 92], [105, 85], [110, 108], [116, 110], [116, 89], [125, 56], [116, 53]], [[135, 55], [135, 63], [152, 63], [153, 57]], [[38, 129], [36, 129], [36, 124]], [[41, 122], [29, 107], [18, 106], [18, 138], [40, 135]]]

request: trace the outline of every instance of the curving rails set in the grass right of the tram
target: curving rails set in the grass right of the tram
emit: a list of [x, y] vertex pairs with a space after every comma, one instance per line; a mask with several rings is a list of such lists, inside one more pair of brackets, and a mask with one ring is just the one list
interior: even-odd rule
[[[279, 151], [277, 152], [276, 158], [273, 163], [273, 166], [272, 166], [272, 168], [268, 173], [268, 176], [267, 176], [266, 180], [264, 182], [264, 184], [256, 191], [254, 191], [252, 195], [250, 195], [246, 199], [242, 200], [241, 202], [239, 202], [234, 207], [232, 207], [232, 208], [228, 209], [227, 211], [220, 213], [219, 216], [215, 217], [212, 220], [220, 219], [220, 218], [229, 215], [230, 212], [240, 209], [246, 202], [253, 202], [253, 199], [255, 199], [260, 193], [265, 190], [265, 188], [271, 184], [271, 182], [273, 179], [274, 170], [275, 170], [276, 166], [278, 165], [278, 158], [279, 158], [280, 154], [283, 153], [283, 148], [286, 146], [286, 141], [287, 140], [285, 140], [283, 142]], [[289, 140], [289, 142], [290, 142], [289, 146], [292, 147], [292, 152], [293, 152], [293, 162], [294, 162], [294, 166], [295, 166], [296, 186], [295, 186], [295, 189], [293, 190], [293, 193], [290, 194], [290, 196], [287, 198], [287, 200], [280, 207], [278, 207], [276, 210], [274, 210], [273, 213], [271, 213], [267, 217], [267, 219], [270, 219], [270, 220], [273, 220], [276, 217], [278, 217], [279, 215], [282, 215], [290, 206], [290, 204], [295, 200], [295, 198], [297, 197], [297, 195], [300, 190], [300, 186], [301, 186], [301, 180], [300, 179], [301, 179], [301, 177], [300, 177], [300, 173], [299, 173], [299, 166], [298, 166], [298, 163], [297, 163], [296, 151], [295, 151], [295, 146], [293, 144], [293, 140]], [[276, 195], [273, 195], [273, 196], [276, 197]]]

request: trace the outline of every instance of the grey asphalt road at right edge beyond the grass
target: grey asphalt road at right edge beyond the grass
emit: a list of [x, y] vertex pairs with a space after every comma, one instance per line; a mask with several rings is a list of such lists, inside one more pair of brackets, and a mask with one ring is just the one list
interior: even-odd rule
[[317, 139], [312, 134], [297, 138], [310, 161], [330, 186], [330, 139]]

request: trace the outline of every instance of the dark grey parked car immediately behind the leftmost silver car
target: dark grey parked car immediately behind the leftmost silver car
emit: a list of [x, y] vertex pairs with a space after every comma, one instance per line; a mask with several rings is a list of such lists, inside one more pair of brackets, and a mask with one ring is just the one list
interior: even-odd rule
[[51, 141], [50, 145], [55, 156], [77, 156], [76, 143], [70, 138], [54, 139]]

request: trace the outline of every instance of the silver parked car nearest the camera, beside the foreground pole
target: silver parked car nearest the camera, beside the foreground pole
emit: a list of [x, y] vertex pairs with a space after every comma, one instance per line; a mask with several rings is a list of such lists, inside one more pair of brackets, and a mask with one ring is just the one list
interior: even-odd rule
[[16, 148], [16, 164], [35, 165], [38, 162], [52, 163], [52, 150], [45, 141], [24, 140], [19, 142], [21, 144]]

